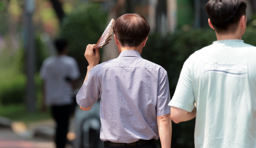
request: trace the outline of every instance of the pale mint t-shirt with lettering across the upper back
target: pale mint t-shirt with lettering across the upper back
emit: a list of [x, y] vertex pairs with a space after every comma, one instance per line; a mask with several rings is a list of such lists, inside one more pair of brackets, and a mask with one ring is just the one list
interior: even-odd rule
[[195, 102], [195, 148], [256, 148], [256, 47], [221, 40], [193, 53], [169, 106]]

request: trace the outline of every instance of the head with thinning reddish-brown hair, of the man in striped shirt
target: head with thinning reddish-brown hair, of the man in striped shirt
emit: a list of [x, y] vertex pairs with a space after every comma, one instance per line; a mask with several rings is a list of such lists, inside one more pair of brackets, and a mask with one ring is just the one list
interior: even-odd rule
[[139, 14], [122, 15], [113, 27], [116, 44], [121, 47], [144, 47], [149, 31], [147, 19]]

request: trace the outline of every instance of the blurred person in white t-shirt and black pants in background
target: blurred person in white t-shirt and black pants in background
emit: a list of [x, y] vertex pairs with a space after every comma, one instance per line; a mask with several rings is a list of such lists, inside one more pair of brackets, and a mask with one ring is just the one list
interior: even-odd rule
[[57, 56], [47, 58], [40, 70], [44, 80], [42, 110], [46, 110], [46, 105], [51, 107], [52, 116], [56, 121], [56, 148], [65, 148], [73, 102], [72, 81], [80, 77], [80, 72], [76, 60], [67, 56], [67, 40], [59, 38], [54, 41], [54, 44]]

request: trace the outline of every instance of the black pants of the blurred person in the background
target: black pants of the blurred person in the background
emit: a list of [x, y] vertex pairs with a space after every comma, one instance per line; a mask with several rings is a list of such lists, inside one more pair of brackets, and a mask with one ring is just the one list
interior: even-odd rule
[[55, 133], [56, 148], [65, 148], [70, 109], [71, 105], [52, 106], [52, 116], [57, 123]]

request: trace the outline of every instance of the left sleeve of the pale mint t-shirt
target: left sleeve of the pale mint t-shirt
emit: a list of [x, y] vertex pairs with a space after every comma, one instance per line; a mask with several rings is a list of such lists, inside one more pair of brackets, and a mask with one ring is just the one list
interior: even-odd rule
[[169, 106], [177, 107], [179, 109], [191, 112], [195, 108], [195, 96], [193, 91], [191, 71], [186, 62], [181, 69], [180, 78], [178, 80], [176, 90], [172, 100], [169, 103]]

